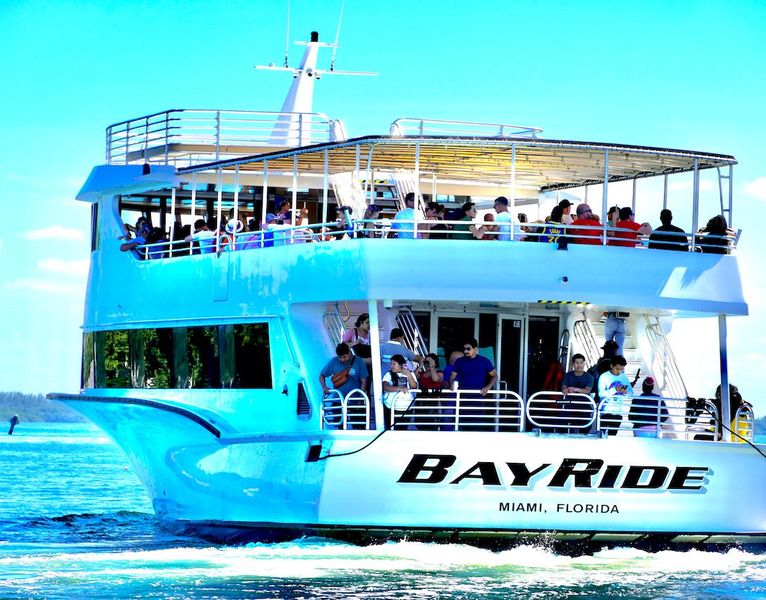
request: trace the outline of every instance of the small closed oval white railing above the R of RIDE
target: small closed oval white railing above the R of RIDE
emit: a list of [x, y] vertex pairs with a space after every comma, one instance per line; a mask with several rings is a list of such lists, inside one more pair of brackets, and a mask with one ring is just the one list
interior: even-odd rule
[[596, 403], [588, 394], [536, 392], [527, 400], [526, 415], [541, 431], [587, 433], [596, 420]]

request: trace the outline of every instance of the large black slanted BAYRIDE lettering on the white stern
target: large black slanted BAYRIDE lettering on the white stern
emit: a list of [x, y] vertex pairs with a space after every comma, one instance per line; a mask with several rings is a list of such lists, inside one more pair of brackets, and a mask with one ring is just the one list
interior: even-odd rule
[[[545, 482], [548, 488], [702, 490], [708, 467], [667, 467], [663, 465], [607, 465], [598, 458], [564, 458], [530, 466], [526, 463], [479, 461], [467, 469], [453, 468], [452, 454], [413, 454], [398, 483], [459, 484], [466, 479], [482, 485], [534, 488]], [[501, 474], [503, 477], [501, 477]]]

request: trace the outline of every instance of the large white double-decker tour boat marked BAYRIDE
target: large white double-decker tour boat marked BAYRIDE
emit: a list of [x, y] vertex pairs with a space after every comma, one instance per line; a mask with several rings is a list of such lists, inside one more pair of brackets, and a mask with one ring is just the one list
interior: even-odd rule
[[[697, 233], [703, 173], [731, 227], [736, 159], [420, 118], [348, 137], [312, 112], [321, 45], [312, 34], [279, 112], [176, 109], [111, 125], [106, 164], [78, 195], [92, 207], [82, 389], [50, 397], [124, 450], [160, 522], [225, 541], [763, 543], [766, 448], [752, 408], [732, 406], [727, 369], [727, 320], [748, 313], [740, 232]], [[616, 185], [632, 182], [631, 207], [646, 214], [668, 207], [674, 177], [693, 181], [673, 206], [692, 217], [684, 251], [608, 222]], [[514, 219], [566, 199], [602, 219], [493, 230], [426, 217], [428, 202], [494, 214], [499, 197]], [[365, 218], [370, 204], [379, 212]], [[133, 238], [139, 218], [167, 239]], [[212, 231], [195, 238], [200, 219]], [[463, 229], [431, 229], [450, 220]], [[618, 233], [634, 237], [616, 245]], [[319, 374], [360, 316], [370, 385], [341, 393]], [[677, 319], [710, 317], [717, 402], [689, 397], [668, 339]], [[627, 329], [632, 385], [654, 381], [638, 417], [638, 391], [606, 418], [604, 399], [561, 390], [570, 357], [599, 362], [610, 318]], [[492, 385], [403, 392], [387, 419], [392, 329], [442, 369], [473, 349]]]

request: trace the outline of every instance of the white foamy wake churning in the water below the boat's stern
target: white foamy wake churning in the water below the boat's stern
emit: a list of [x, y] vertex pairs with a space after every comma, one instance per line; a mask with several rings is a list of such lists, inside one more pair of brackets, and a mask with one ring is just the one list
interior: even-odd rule
[[[634, 598], [766, 593], [766, 556], [629, 548], [577, 557], [538, 546], [492, 552], [458, 544], [391, 542], [354, 546], [322, 538], [243, 546], [172, 539], [150, 515], [68, 515], [27, 523], [66, 530], [76, 546], [0, 543], [0, 596], [55, 589], [78, 595], [225, 595], [254, 598], [554, 596]], [[39, 533], [39, 531], [38, 531]], [[150, 535], [151, 533], [151, 535]], [[5, 546], [5, 547], [4, 547]], [[10, 547], [9, 547], [10, 546]], [[9, 552], [11, 547], [16, 551]]]

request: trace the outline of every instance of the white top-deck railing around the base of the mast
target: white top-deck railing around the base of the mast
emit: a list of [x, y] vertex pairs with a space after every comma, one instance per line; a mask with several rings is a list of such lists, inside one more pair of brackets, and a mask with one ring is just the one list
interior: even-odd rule
[[344, 139], [343, 124], [322, 113], [172, 109], [107, 127], [106, 162], [191, 166]]

